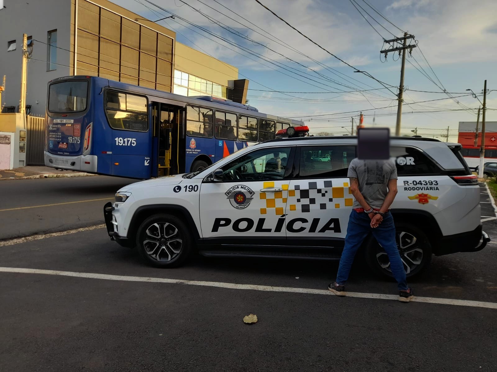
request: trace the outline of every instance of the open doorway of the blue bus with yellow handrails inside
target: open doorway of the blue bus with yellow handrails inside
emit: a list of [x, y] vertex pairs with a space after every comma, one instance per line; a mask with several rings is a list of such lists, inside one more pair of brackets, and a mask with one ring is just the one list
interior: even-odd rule
[[178, 141], [181, 107], [154, 102], [154, 170], [157, 177], [179, 173]]

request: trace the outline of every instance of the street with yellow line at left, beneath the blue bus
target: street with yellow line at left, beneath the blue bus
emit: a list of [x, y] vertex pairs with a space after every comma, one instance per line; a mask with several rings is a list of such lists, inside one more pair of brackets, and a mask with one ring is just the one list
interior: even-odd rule
[[104, 223], [103, 205], [136, 180], [106, 176], [0, 181], [0, 240]]

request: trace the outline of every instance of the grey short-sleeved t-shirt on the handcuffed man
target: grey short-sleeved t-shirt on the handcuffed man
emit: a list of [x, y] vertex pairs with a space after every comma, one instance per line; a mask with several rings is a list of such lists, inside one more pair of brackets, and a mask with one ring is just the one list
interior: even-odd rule
[[[397, 168], [391, 160], [353, 159], [348, 166], [347, 177], [356, 178], [359, 191], [373, 208], [380, 209], [388, 193], [388, 181], [397, 180]], [[352, 208], [362, 208], [354, 199]]]

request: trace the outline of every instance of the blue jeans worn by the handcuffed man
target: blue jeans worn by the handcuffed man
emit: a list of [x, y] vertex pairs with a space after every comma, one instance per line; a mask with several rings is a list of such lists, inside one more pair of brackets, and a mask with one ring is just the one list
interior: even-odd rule
[[382, 223], [373, 229], [370, 226], [371, 219], [366, 213], [351, 211], [348, 220], [347, 236], [345, 237], [345, 247], [340, 258], [336, 283], [344, 285], [348, 279], [350, 267], [354, 260], [357, 249], [361, 246], [366, 236], [371, 232], [376, 241], [385, 249], [390, 259], [390, 269], [397, 280], [399, 290], [407, 290], [406, 271], [402, 263], [397, 243], [395, 242], [395, 225], [392, 214], [386, 213]]

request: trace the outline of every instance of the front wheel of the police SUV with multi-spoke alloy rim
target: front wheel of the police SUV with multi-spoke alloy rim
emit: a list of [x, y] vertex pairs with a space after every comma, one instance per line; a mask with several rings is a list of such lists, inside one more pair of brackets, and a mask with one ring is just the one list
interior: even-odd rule
[[155, 214], [138, 228], [136, 248], [149, 265], [177, 267], [190, 255], [193, 240], [181, 219], [170, 214]]

